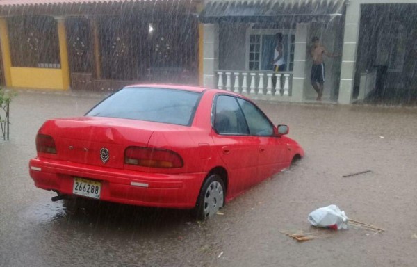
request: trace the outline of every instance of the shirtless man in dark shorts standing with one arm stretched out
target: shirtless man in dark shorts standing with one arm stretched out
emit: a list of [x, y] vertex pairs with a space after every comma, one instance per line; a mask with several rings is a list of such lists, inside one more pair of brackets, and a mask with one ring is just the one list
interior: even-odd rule
[[338, 55], [329, 54], [326, 48], [320, 44], [317, 36], [311, 40], [313, 46], [311, 47], [311, 57], [313, 58], [313, 65], [311, 66], [311, 85], [317, 92], [317, 99], [321, 101], [323, 93], [323, 83], [325, 83], [325, 63], [323, 62], [323, 56], [336, 58]]

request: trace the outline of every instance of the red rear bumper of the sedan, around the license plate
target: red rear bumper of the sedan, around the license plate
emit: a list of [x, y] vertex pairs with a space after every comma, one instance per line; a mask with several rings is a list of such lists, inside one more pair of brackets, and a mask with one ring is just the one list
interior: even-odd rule
[[35, 186], [72, 192], [74, 177], [101, 182], [100, 200], [147, 207], [191, 209], [206, 173], [158, 174], [112, 168], [99, 168], [79, 163], [49, 162], [35, 158], [29, 162], [29, 173]]

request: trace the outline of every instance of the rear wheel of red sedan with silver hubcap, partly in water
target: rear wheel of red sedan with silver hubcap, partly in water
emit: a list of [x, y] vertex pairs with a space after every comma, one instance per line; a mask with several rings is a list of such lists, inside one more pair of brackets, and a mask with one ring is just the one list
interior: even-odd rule
[[224, 183], [219, 175], [210, 175], [202, 186], [195, 206], [195, 215], [199, 220], [213, 216], [223, 207]]

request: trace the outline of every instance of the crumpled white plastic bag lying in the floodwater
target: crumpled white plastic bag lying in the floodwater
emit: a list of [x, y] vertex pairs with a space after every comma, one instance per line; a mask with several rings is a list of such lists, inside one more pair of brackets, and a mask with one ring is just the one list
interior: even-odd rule
[[347, 229], [347, 216], [336, 205], [322, 207], [312, 211], [308, 218], [311, 225], [327, 227], [334, 230]]

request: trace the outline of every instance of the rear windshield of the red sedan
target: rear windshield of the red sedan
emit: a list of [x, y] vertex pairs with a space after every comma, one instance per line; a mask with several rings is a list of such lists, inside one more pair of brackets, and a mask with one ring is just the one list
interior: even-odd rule
[[199, 95], [165, 88], [124, 88], [85, 115], [189, 125]]

